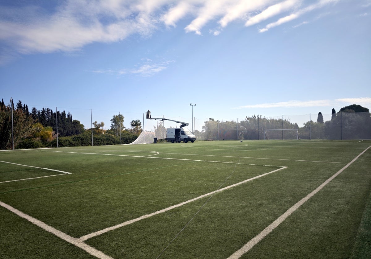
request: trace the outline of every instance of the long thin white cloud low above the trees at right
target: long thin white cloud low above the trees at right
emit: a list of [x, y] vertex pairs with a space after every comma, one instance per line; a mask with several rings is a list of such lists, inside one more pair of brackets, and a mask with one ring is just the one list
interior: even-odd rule
[[361, 97], [361, 98], [342, 98], [336, 100], [310, 100], [310, 101], [286, 101], [286, 102], [272, 102], [272, 103], [262, 103], [262, 104], [252, 104], [252, 105], [243, 105], [236, 107], [235, 109], [243, 108], [303, 108], [303, 107], [337, 107], [339, 105], [352, 105], [359, 104], [370, 107], [371, 98], [370, 97]]

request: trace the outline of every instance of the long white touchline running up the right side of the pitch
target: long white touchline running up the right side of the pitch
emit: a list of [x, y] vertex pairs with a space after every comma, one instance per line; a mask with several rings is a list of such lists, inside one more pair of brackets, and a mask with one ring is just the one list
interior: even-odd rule
[[[370, 146], [371, 147], [371, 146]], [[323, 182], [321, 185], [319, 185], [314, 191], [312, 191], [310, 194], [305, 196], [303, 199], [295, 203], [291, 208], [289, 208], [285, 213], [283, 213], [281, 216], [279, 216], [278, 219], [273, 221], [269, 226], [267, 226], [262, 232], [260, 232], [258, 235], [256, 235], [253, 239], [251, 239], [249, 242], [247, 242], [242, 248], [237, 250], [233, 253], [228, 259], [237, 259], [240, 258], [244, 253], [248, 252], [253, 246], [255, 246], [260, 240], [265, 238], [270, 232], [273, 231], [280, 223], [282, 223], [288, 216], [290, 216], [296, 209], [298, 209], [301, 205], [303, 205], [304, 202], [308, 201], [313, 195], [315, 195], [317, 192], [319, 192], [322, 188], [324, 188], [332, 179], [334, 179], [336, 176], [338, 176], [342, 171], [348, 168], [349, 165], [351, 165], [354, 161], [356, 161], [364, 152], [367, 151], [370, 147], [366, 148], [364, 151], [361, 152], [357, 157], [355, 157], [352, 161], [350, 161], [347, 165], [345, 165], [343, 168], [341, 168], [338, 172], [336, 172], [334, 175], [332, 175], [330, 178], [328, 178], [325, 182]]]

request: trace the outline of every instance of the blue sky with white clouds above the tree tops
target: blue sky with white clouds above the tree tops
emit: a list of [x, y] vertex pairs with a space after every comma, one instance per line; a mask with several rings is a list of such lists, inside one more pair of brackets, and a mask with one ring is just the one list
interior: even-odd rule
[[190, 103], [197, 129], [252, 115], [301, 126], [371, 109], [371, 0], [0, 0], [0, 85], [4, 102], [86, 128], [119, 112], [130, 128], [148, 109], [192, 128]]

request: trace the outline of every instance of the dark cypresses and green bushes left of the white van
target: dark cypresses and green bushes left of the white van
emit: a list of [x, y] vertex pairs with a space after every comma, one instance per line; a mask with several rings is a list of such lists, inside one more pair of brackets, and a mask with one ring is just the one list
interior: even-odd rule
[[[29, 111], [28, 106], [20, 100], [14, 106], [13, 99], [9, 104], [2, 99], [0, 149], [56, 147], [58, 144], [60, 147], [127, 144], [138, 137], [141, 123], [139, 120], [132, 121], [132, 129], [125, 129], [123, 123], [122, 114], [114, 115], [111, 129], [103, 130], [104, 122], [95, 121], [94, 128], [86, 130], [80, 121], [73, 120], [70, 112], [50, 108], [37, 110], [35, 107]], [[94, 135], [93, 143], [91, 133]]]

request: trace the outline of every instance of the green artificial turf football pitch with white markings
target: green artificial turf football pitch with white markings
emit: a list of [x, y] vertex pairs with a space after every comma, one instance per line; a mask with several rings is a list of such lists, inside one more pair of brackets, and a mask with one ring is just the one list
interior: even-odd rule
[[0, 257], [368, 258], [370, 147], [196, 141], [0, 151]]

